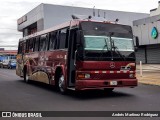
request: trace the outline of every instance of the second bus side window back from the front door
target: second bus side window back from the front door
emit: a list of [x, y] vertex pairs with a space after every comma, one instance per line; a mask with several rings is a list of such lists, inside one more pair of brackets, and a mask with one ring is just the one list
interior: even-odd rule
[[51, 32], [49, 36], [50, 36], [49, 37], [49, 50], [54, 50], [56, 39], [57, 39], [57, 31]]

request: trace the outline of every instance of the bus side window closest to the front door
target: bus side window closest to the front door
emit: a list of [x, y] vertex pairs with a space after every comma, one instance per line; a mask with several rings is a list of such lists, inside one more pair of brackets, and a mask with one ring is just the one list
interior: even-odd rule
[[58, 40], [59, 49], [65, 49], [66, 38], [67, 38], [67, 29], [65, 28], [59, 32], [59, 40]]

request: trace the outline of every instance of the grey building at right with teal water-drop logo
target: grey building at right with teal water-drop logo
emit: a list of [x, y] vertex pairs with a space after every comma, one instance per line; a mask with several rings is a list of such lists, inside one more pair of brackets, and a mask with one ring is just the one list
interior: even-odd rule
[[133, 31], [140, 42], [137, 62], [160, 63], [160, 1], [149, 17], [133, 21]]

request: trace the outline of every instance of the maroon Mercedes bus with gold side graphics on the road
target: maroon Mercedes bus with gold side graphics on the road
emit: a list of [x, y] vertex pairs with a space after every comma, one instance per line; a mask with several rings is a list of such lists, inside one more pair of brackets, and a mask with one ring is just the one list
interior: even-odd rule
[[130, 26], [76, 19], [20, 39], [16, 74], [61, 93], [112, 91], [137, 86], [135, 59]]

